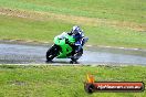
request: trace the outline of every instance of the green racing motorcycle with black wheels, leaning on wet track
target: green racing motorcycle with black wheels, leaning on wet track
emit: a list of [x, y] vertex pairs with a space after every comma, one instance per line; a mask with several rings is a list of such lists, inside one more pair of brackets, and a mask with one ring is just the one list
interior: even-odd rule
[[[83, 39], [83, 44], [87, 42], [87, 37]], [[54, 44], [46, 52], [46, 62], [51, 62], [55, 58], [71, 58], [71, 64], [76, 64], [77, 60], [83, 54], [83, 47], [80, 48], [79, 52], [74, 52], [75, 46], [72, 44], [75, 43], [75, 39], [67, 33], [63, 33], [62, 35], [58, 35], [54, 37]]]

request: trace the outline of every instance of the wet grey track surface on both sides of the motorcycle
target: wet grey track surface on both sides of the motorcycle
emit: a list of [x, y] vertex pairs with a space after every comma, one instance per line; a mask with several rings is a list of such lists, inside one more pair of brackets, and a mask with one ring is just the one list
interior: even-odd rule
[[[0, 64], [48, 64], [45, 52], [50, 46], [0, 43]], [[69, 64], [70, 60], [54, 58], [51, 64]], [[80, 64], [146, 65], [146, 51], [121, 48], [86, 48]]]

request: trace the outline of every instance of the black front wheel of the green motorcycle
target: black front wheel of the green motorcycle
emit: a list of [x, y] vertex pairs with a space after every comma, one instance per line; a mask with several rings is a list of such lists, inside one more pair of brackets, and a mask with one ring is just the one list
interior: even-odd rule
[[51, 48], [49, 48], [46, 52], [46, 61], [52, 61], [59, 54], [59, 46], [55, 44]]

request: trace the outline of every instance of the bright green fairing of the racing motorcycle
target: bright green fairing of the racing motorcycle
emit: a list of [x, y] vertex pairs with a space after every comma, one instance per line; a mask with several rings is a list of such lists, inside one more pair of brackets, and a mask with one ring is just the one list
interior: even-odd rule
[[59, 36], [55, 36], [54, 43], [56, 45], [60, 45], [62, 48], [62, 52], [60, 52], [60, 54], [58, 55], [58, 58], [66, 58], [67, 57], [66, 55], [73, 51], [72, 47], [65, 43], [65, 39], [67, 39], [70, 43], [75, 43], [75, 39], [71, 35], [66, 34], [65, 37], [62, 40], [60, 40]]

